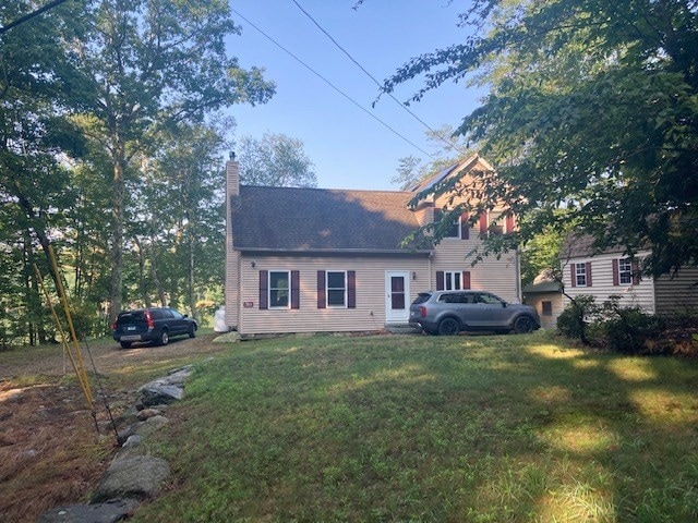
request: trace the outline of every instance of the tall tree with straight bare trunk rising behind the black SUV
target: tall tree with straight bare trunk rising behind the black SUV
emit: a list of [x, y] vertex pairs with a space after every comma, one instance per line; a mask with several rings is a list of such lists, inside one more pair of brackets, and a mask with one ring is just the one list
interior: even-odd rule
[[274, 89], [260, 70], [243, 70], [227, 54], [226, 37], [240, 29], [225, 0], [94, 0], [87, 16], [92, 29], [75, 46], [89, 84], [75, 95], [85, 131], [110, 158], [113, 317], [122, 300], [129, 168], [170, 125], [232, 104], [264, 102]]

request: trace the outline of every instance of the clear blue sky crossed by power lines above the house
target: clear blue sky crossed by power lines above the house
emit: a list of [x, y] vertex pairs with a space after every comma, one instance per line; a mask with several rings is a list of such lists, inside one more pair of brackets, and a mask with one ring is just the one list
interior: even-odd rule
[[[447, 0], [297, 0], [364, 69], [382, 82], [410, 58], [462, 41], [457, 26], [465, 2]], [[309, 64], [361, 107], [421, 149], [434, 154], [426, 127], [384, 97], [375, 83], [338, 49], [292, 0], [230, 0], [252, 24]], [[233, 12], [242, 35], [230, 37], [229, 51], [244, 68], [266, 69], [277, 94], [266, 105], [234, 106], [236, 136], [258, 138], [265, 132], [299, 138], [315, 163], [318, 186], [328, 188], [396, 190], [390, 179], [399, 158], [429, 157], [334, 90]], [[421, 86], [406, 84], [395, 94], [402, 101]], [[410, 106], [436, 129], [457, 126], [478, 102], [478, 93], [464, 83], [446, 84]]]

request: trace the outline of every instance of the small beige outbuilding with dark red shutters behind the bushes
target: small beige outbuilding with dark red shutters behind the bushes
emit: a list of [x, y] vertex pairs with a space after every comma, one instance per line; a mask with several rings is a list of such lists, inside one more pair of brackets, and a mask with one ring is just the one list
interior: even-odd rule
[[[649, 254], [640, 251], [636, 259]], [[684, 267], [674, 276], [641, 277], [638, 263], [622, 246], [597, 252], [593, 238], [579, 233], [566, 239], [561, 264], [565, 293], [571, 297], [588, 294], [602, 304], [616, 295], [622, 306], [639, 306], [648, 314], [664, 316], [698, 311], [698, 267]], [[567, 296], [563, 301], [569, 303]]]

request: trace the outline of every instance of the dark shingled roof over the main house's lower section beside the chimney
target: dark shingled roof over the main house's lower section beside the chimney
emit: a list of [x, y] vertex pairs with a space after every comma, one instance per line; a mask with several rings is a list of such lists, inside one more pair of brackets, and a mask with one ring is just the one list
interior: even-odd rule
[[405, 252], [419, 228], [409, 192], [240, 187], [232, 196], [239, 251]]

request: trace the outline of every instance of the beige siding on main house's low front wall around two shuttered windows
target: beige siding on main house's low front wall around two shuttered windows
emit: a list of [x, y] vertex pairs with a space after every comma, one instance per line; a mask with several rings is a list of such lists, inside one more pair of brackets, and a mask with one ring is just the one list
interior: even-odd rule
[[[252, 263], [254, 262], [254, 267]], [[385, 327], [386, 270], [409, 272], [407, 305], [419, 292], [429, 289], [425, 258], [388, 257], [266, 257], [245, 255], [241, 259], [240, 321], [243, 335], [277, 332], [351, 332], [380, 330]], [[260, 270], [298, 270], [300, 308], [260, 309]], [[317, 308], [317, 271], [354, 270], [356, 308]], [[414, 279], [412, 279], [414, 272]], [[252, 306], [243, 306], [243, 304]]]

